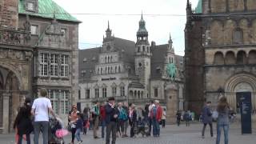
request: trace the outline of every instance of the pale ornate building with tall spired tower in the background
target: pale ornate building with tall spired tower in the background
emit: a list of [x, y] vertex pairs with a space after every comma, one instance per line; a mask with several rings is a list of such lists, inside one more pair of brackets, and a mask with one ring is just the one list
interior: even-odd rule
[[183, 58], [174, 54], [168, 44], [156, 46], [148, 41], [143, 18], [139, 21], [137, 42], [115, 38], [108, 26], [102, 47], [79, 50], [79, 86], [81, 107], [106, 101], [114, 96], [118, 102], [133, 102], [144, 106], [159, 99], [166, 106], [166, 85], [170, 78], [166, 66], [178, 67], [175, 84], [178, 87], [177, 109], [183, 110]]

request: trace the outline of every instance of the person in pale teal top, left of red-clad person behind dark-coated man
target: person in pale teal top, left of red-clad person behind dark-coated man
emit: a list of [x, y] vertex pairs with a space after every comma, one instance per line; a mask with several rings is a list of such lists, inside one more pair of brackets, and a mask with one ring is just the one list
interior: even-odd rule
[[95, 105], [93, 106], [92, 116], [93, 116], [93, 123], [94, 123], [94, 138], [99, 138], [97, 135], [98, 132], [98, 124], [99, 124], [99, 117], [100, 117], [100, 111], [99, 111], [100, 103], [97, 101], [95, 102]]

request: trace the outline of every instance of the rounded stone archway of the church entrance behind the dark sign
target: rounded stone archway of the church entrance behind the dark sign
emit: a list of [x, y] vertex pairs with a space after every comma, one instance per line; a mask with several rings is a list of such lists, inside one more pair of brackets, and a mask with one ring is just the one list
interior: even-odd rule
[[236, 74], [229, 78], [225, 86], [225, 95], [233, 110], [237, 111], [237, 92], [251, 92], [252, 108], [256, 108], [256, 77], [253, 74]]

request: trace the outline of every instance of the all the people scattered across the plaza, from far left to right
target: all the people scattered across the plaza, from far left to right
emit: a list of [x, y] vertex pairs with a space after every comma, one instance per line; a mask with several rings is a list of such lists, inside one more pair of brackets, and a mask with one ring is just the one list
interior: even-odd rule
[[[38, 144], [40, 131], [42, 132], [43, 144], [50, 142], [49, 132], [56, 134], [55, 140], [61, 139], [64, 132], [60, 123], [61, 120], [50, 122], [50, 114], [56, 118], [49, 98], [46, 98], [47, 90], [40, 90], [39, 98], [36, 98], [31, 105], [31, 99], [26, 98], [24, 105], [19, 108], [18, 115], [14, 121], [14, 129], [17, 134], [17, 143], [22, 144], [25, 139], [30, 144], [30, 133], [34, 131], [34, 144]], [[210, 136], [213, 137], [213, 118], [217, 117], [217, 138], [216, 144], [220, 143], [221, 130], [224, 130], [225, 144], [228, 143], [230, 106], [226, 97], [219, 98], [217, 114], [211, 110], [211, 102], [206, 102], [202, 108], [202, 138], [205, 138], [206, 126], [210, 126]], [[50, 113], [50, 114], [49, 114]], [[185, 113], [177, 112], [177, 124], [180, 125], [181, 119], [190, 126], [193, 120], [193, 114], [190, 111]], [[217, 115], [217, 116], [216, 116]], [[52, 124], [57, 122], [58, 125]], [[51, 126], [52, 125], [52, 126]], [[115, 103], [114, 97], [108, 98], [106, 102], [94, 102], [91, 108], [86, 107], [79, 112], [76, 105], [72, 106], [68, 115], [68, 130], [71, 133], [71, 142], [74, 144], [75, 138], [78, 144], [82, 143], [81, 133], [86, 134], [87, 130], [93, 130], [94, 138], [106, 138], [106, 144], [110, 144], [110, 135], [112, 135], [112, 144], [115, 144], [116, 138], [126, 138], [128, 136], [128, 127], [130, 126], [130, 138], [136, 138], [138, 134], [142, 137], [160, 136], [160, 125], [166, 126], [166, 109], [160, 106], [158, 100], [150, 102], [145, 106], [135, 106], [134, 103], [127, 102]], [[101, 126], [101, 135], [98, 134], [98, 128]], [[50, 128], [49, 128], [50, 127]], [[54, 128], [54, 130], [53, 130]], [[67, 133], [65, 133], [67, 134]], [[50, 138], [49, 138], [50, 137]], [[61, 139], [62, 140], [62, 139]]]

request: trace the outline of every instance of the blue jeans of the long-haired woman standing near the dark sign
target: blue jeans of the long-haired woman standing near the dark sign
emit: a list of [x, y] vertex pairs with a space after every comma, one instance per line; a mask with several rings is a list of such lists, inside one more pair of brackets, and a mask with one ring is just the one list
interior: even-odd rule
[[228, 123], [223, 123], [223, 122], [218, 122], [217, 123], [217, 138], [216, 138], [216, 144], [220, 143], [221, 140], [221, 135], [222, 135], [222, 129], [224, 131], [224, 142], [225, 144], [229, 143], [229, 124]]

